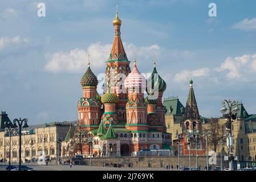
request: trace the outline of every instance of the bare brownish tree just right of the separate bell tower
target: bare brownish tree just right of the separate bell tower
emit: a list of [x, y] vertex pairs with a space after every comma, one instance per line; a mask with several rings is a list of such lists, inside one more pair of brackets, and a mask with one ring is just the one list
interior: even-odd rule
[[210, 131], [209, 139], [209, 145], [213, 147], [213, 150], [217, 151], [217, 146], [220, 143], [220, 140], [224, 138], [224, 128], [220, 125], [218, 122], [218, 118], [211, 118], [209, 122], [209, 129], [206, 129], [206, 131]]

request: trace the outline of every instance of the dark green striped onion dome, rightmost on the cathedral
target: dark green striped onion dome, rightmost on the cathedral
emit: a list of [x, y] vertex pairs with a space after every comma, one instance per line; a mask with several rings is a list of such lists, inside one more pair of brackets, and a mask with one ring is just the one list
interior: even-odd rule
[[[153, 62], [154, 64], [154, 69], [151, 74], [151, 76], [148, 78], [148, 86], [151, 88], [153, 91], [159, 91], [159, 92], [164, 92], [166, 89], [166, 82], [159, 76], [159, 73], [156, 71], [156, 62]], [[158, 76], [158, 79], [155, 78], [155, 76]], [[148, 92], [148, 90], [147, 90]]]

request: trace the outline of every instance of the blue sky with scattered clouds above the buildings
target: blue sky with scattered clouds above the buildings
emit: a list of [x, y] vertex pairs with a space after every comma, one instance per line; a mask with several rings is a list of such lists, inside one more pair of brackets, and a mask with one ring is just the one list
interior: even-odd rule
[[[38, 16], [38, 3], [46, 16]], [[209, 3], [217, 16], [209, 16]], [[224, 99], [256, 113], [254, 0], [1, 0], [0, 109], [29, 124], [78, 119], [87, 55], [100, 80], [116, 5], [128, 59], [136, 51], [137, 68], [151, 73], [156, 54], [164, 97], [178, 96], [185, 105], [191, 76], [200, 115], [220, 117]]]

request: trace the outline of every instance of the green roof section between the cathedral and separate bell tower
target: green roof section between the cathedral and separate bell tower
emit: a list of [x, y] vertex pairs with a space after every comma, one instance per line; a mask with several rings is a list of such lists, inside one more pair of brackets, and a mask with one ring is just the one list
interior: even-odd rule
[[163, 105], [167, 109], [166, 115], [168, 115], [168, 114], [182, 115], [184, 113], [185, 107], [181, 104], [178, 97], [165, 98]]

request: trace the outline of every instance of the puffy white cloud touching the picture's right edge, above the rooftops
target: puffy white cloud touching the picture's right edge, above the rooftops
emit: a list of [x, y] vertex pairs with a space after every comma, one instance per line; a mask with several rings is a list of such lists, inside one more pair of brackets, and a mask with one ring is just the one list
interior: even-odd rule
[[226, 77], [229, 79], [243, 78], [253, 72], [256, 73], [256, 54], [243, 55], [240, 57], [227, 57], [220, 67], [215, 69], [217, 72], [227, 71]]

